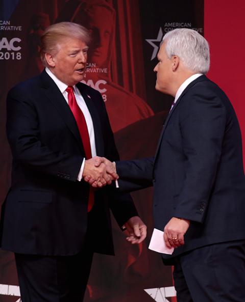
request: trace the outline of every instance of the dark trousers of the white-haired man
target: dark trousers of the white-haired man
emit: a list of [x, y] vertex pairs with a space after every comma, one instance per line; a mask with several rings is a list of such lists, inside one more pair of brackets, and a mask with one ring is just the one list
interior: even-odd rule
[[245, 240], [176, 257], [174, 280], [178, 302], [244, 302]]

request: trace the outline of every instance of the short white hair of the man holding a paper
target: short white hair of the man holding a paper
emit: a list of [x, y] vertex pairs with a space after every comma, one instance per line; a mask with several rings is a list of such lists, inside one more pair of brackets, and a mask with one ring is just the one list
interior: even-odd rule
[[184, 66], [193, 72], [206, 74], [210, 66], [209, 45], [197, 31], [176, 29], [166, 33], [165, 50], [170, 59], [176, 55]]

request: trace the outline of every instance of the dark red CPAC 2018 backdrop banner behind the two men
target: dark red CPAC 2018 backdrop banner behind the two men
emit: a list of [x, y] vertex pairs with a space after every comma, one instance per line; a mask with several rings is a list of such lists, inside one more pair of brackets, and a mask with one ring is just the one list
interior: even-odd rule
[[[155, 153], [173, 98], [155, 90], [157, 52], [163, 35], [176, 28], [203, 33], [203, 0], [0, 0], [0, 200], [10, 185], [11, 152], [5, 134], [6, 95], [40, 73], [40, 36], [60, 21], [91, 33], [86, 77], [106, 104], [121, 159]], [[171, 267], [148, 250], [154, 227], [152, 188], [132, 194], [148, 226], [139, 245], [125, 240], [113, 220], [116, 256], [95, 255], [85, 302], [176, 301]], [[72, 234], [70, 234], [72, 236]], [[99, 236], [103, 236], [99, 234]], [[13, 254], [0, 252], [0, 302], [20, 301]], [[72, 302], [72, 301], [71, 301]]]

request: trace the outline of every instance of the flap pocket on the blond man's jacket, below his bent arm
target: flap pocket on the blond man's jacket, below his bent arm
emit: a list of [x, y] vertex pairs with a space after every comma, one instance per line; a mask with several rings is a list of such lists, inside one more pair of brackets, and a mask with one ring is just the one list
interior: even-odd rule
[[34, 191], [22, 189], [19, 191], [18, 202], [51, 203], [53, 193], [48, 191]]

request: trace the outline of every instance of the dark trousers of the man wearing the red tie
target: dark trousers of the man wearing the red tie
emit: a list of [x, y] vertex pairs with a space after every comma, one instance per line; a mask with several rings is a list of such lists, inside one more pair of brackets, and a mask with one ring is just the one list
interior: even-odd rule
[[[92, 216], [84, 248], [72, 256], [41, 256], [15, 253], [22, 302], [82, 302], [91, 268]], [[90, 244], [91, 243], [91, 244]]]

